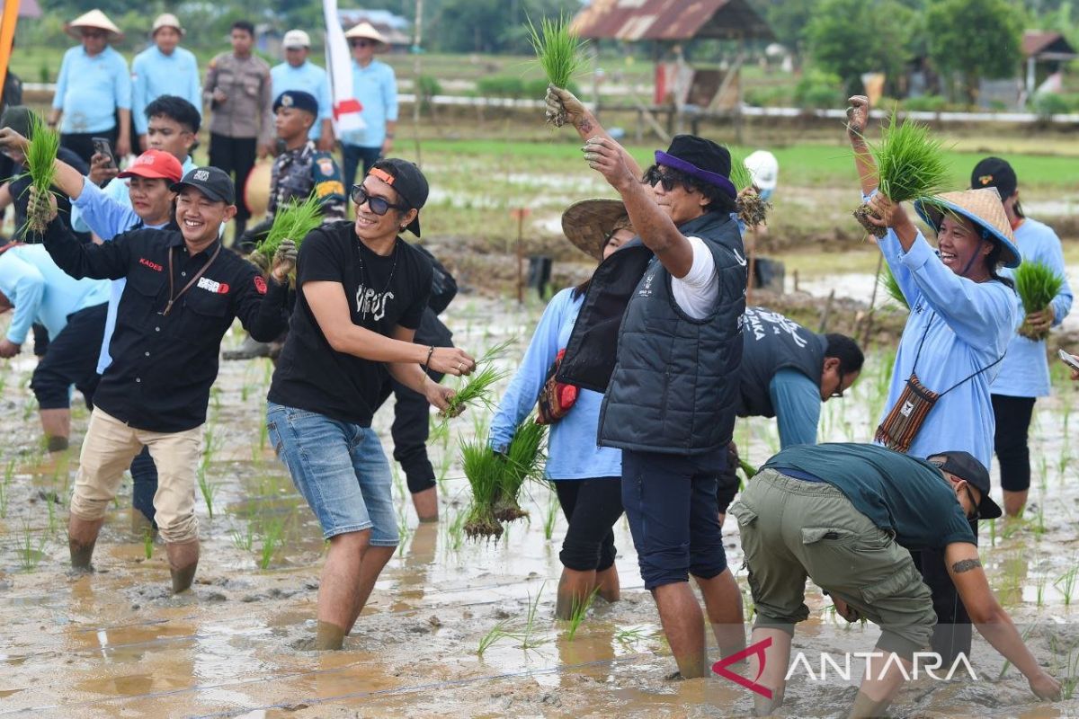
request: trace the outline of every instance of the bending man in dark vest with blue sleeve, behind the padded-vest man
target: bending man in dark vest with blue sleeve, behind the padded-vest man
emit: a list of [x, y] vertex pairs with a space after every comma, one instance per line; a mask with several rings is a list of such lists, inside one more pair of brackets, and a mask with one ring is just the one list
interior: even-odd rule
[[[780, 448], [817, 443], [820, 405], [858, 379], [865, 357], [845, 334], [816, 334], [779, 313], [747, 307], [739, 371], [739, 417], [776, 417]], [[720, 476], [720, 524], [738, 492], [738, 448]]]

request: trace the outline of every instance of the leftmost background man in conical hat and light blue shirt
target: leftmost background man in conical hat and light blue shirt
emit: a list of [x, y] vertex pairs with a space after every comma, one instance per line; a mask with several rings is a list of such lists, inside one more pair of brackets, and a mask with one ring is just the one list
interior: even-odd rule
[[94, 137], [107, 138], [117, 156], [124, 157], [132, 149], [132, 82], [127, 61], [109, 45], [123, 37], [120, 28], [100, 10], [92, 10], [68, 23], [66, 30], [82, 44], [64, 54], [49, 125], [59, 123], [60, 144], [87, 163]]

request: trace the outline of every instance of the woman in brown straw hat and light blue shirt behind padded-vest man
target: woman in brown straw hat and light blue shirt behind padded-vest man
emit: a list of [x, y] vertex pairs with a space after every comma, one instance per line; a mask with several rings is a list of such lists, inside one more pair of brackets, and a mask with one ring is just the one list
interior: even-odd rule
[[[601, 262], [634, 235], [617, 199], [586, 199], [570, 206], [562, 215], [562, 230]], [[562, 290], [540, 318], [491, 423], [490, 444], [495, 452], [506, 452], [517, 427], [532, 421], [529, 415], [570, 341], [587, 289], [586, 280]], [[593, 591], [607, 602], [619, 594], [613, 527], [622, 516], [622, 451], [596, 445], [602, 401], [601, 393], [578, 389], [570, 411], [551, 425], [547, 442], [546, 476], [570, 523], [559, 554], [563, 568], [555, 612], [560, 619], [569, 619]]]

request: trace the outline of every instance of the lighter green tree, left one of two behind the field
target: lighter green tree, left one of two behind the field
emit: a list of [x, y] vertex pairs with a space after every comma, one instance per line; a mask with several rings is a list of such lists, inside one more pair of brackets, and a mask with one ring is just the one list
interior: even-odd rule
[[912, 58], [914, 19], [896, 0], [822, 0], [806, 28], [809, 56], [848, 94], [862, 91], [864, 72], [884, 72], [894, 86]]

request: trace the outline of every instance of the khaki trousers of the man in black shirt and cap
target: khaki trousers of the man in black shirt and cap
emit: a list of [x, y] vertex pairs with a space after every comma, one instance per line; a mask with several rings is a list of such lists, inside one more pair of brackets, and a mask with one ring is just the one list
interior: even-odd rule
[[166, 542], [197, 539], [195, 472], [202, 455], [202, 425], [182, 432], [135, 429], [95, 409], [82, 441], [71, 514], [86, 521], [104, 517], [117, 496], [124, 470], [145, 445], [158, 467], [153, 509], [162, 539]]

